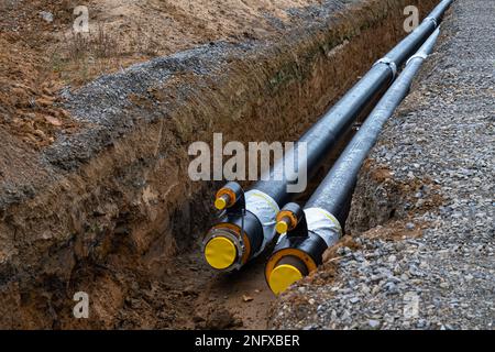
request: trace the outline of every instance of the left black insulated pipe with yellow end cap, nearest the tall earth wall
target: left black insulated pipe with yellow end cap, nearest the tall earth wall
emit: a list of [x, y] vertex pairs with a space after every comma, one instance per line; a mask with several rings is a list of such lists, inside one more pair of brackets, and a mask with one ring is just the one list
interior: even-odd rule
[[[402, 67], [435, 31], [452, 1], [441, 1], [413, 33], [380, 59], [333, 108], [314, 124], [296, 143], [296, 148], [275, 163], [270, 170], [270, 177], [264, 175], [262, 180], [245, 193], [242, 211], [233, 212], [228, 208], [224, 209], [218, 223], [204, 239], [204, 254], [211, 267], [219, 271], [239, 270], [262, 253], [266, 244], [274, 240], [275, 218], [279, 206], [289, 201], [295, 195], [288, 191], [292, 182], [285, 175], [285, 165], [294, 163], [297, 145], [302, 143], [306, 145], [307, 158], [304, 164], [307, 166], [308, 176], [311, 176], [363, 110], [374, 103], [394, 81], [397, 68]], [[296, 174], [297, 172], [296, 167]], [[229, 200], [227, 196], [224, 197], [218, 200], [221, 207]], [[218, 208], [221, 209], [221, 207]], [[252, 228], [249, 229], [249, 233], [242, 226], [244, 223], [242, 218], [248, 215], [249, 218], [254, 217], [258, 220], [250, 221]], [[235, 238], [235, 241], [232, 238]], [[251, 243], [250, 239], [256, 239], [256, 241]]]

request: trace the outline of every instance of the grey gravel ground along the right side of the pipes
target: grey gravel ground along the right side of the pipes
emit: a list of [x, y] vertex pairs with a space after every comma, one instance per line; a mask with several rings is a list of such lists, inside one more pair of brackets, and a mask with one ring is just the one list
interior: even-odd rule
[[455, 1], [361, 173], [352, 245], [279, 300], [275, 327], [494, 329], [494, 16]]

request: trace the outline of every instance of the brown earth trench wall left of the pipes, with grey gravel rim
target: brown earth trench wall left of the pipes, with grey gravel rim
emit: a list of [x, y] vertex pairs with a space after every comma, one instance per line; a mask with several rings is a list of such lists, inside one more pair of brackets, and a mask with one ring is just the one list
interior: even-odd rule
[[[1, 204], [0, 327], [113, 328], [125, 292], [198, 246], [218, 183], [187, 176], [195, 141], [295, 141], [400, 37], [403, 10], [356, 1], [276, 41], [211, 43], [66, 92], [80, 122], [41, 180]], [[90, 295], [90, 319], [73, 295]]]

